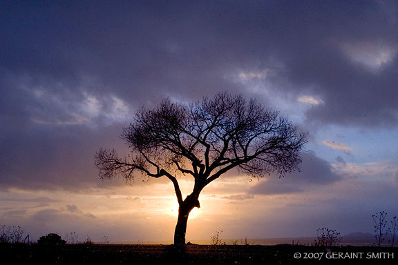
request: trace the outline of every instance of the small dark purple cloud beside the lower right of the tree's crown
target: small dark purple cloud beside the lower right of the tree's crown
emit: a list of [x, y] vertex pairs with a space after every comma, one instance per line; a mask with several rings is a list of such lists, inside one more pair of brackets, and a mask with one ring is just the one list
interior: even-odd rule
[[286, 193], [301, 193], [305, 188], [330, 184], [339, 181], [341, 177], [332, 171], [332, 166], [314, 153], [303, 154], [303, 164], [300, 172], [294, 172], [286, 177], [274, 175], [260, 181], [249, 190], [249, 194], [276, 195]]

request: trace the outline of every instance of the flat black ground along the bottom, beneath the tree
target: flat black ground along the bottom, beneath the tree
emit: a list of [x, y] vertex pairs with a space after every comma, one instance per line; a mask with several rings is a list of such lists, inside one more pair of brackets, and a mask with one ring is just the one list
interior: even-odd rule
[[398, 264], [398, 248], [0, 244], [0, 257], [8, 261], [1, 264]]

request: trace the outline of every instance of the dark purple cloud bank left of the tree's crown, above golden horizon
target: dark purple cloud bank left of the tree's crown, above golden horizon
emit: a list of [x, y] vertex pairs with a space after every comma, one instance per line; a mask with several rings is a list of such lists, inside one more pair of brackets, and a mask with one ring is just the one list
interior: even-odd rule
[[[108, 184], [97, 177], [93, 155], [113, 142], [121, 126], [97, 130], [84, 126], [21, 126], [3, 130], [1, 188], [87, 188]], [[106, 133], [108, 131], [108, 133]], [[107, 138], [109, 137], [109, 138]], [[115, 182], [113, 182], [115, 184]]]

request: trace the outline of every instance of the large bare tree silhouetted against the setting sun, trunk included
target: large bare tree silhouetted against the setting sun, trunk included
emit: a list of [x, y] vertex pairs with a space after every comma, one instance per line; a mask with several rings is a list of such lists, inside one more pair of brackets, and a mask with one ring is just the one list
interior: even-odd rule
[[[200, 208], [199, 195], [205, 186], [232, 168], [258, 178], [298, 170], [305, 136], [278, 112], [240, 95], [223, 92], [193, 104], [165, 99], [154, 110], [138, 110], [124, 128], [122, 139], [131, 155], [119, 157], [115, 150], [101, 148], [95, 165], [102, 178], [122, 175], [131, 181], [138, 172], [170, 179], [179, 204], [174, 244], [185, 244], [189, 213]], [[193, 191], [185, 199], [177, 175], [194, 180]]]

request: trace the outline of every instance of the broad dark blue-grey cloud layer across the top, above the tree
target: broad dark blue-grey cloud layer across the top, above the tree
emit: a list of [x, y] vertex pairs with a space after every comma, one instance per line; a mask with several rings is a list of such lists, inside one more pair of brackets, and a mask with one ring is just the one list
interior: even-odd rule
[[[214, 90], [240, 91], [240, 84], [226, 78], [231, 72], [274, 69], [270, 81], [285, 85], [278, 89], [323, 97], [325, 105], [309, 113], [312, 119], [396, 123], [398, 33], [397, 21], [388, 18], [397, 7], [385, 6], [378, 1], [18, 3], [3, 8], [3, 74], [28, 75], [50, 90], [64, 84], [62, 97], [71, 90], [77, 98], [82, 76], [88, 75], [99, 79], [99, 86], [85, 89], [137, 103], [170, 94], [187, 99]], [[345, 46], [375, 57], [378, 47], [388, 48], [391, 62], [373, 74], [348, 58]]]

